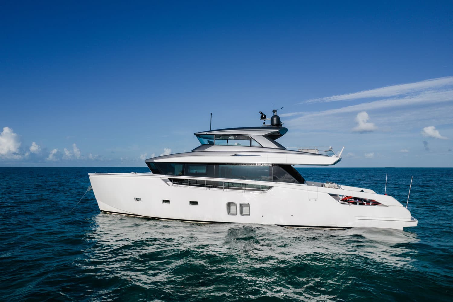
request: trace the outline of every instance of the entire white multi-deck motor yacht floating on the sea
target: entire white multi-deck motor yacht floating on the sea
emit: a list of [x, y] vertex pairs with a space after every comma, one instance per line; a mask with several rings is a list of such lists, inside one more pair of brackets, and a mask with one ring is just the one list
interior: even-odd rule
[[195, 133], [192, 152], [145, 160], [151, 173], [90, 173], [103, 212], [191, 222], [274, 224], [305, 228], [402, 230], [417, 220], [399, 201], [373, 190], [306, 181], [294, 165], [334, 165], [332, 148], [288, 150], [288, 129], [270, 125]]

